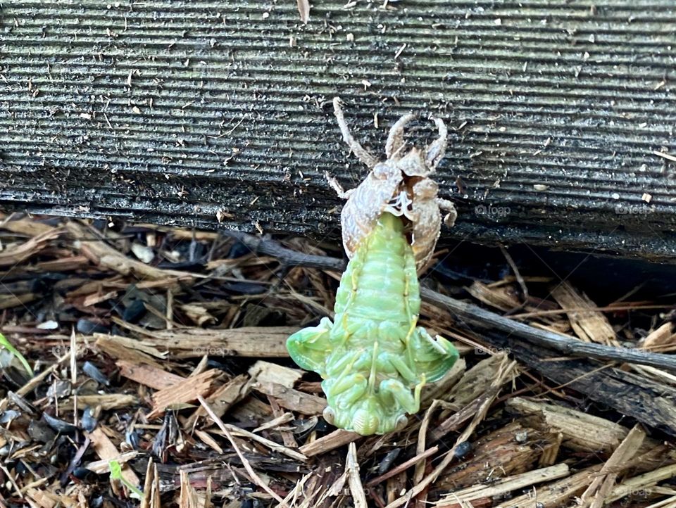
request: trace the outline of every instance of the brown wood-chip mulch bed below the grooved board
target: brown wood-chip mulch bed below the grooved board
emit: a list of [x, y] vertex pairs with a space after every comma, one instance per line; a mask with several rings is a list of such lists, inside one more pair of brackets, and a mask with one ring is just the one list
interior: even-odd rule
[[461, 360], [361, 437], [285, 348], [332, 316], [339, 245], [18, 216], [0, 242], [32, 369], [0, 350], [0, 505], [676, 507], [674, 296], [599, 307], [506, 251], [494, 280], [430, 269], [420, 322]]

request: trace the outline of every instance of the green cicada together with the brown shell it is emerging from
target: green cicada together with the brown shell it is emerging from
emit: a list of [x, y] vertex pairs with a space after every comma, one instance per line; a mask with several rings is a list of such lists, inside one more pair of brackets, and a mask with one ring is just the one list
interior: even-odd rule
[[383, 434], [406, 426], [406, 413], [420, 409], [420, 390], [440, 379], [458, 359], [446, 339], [432, 338], [418, 326], [420, 286], [417, 269], [434, 251], [441, 228], [455, 210], [437, 198], [430, 178], [446, 150], [446, 127], [435, 119], [439, 139], [425, 151], [403, 153], [403, 127], [392, 127], [383, 163], [351, 136], [338, 99], [335, 113], [346, 143], [370, 167], [356, 189], [343, 192], [343, 242], [349, 263], [336, 294], [333, 322], [302, 329], [287, 341], [303, 369], [323, 377], [325, 419], [362, 435]]

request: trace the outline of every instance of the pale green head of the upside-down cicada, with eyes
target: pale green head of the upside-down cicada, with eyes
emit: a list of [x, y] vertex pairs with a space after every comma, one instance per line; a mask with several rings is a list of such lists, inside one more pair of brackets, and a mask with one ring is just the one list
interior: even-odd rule
[[335, 406], [337, 407], [327, 406], [324, 409], [324, 419], [334, 426], [361, 436], [400, 431], [408, 424], [408, 418], [403, 412], [394, 414], [392, 407], [384, 407], [377, 395], [366, 395], [350, 405]]

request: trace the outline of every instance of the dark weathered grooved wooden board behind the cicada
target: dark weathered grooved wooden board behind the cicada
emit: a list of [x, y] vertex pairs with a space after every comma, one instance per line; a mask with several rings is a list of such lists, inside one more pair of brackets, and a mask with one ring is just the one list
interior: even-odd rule
[[445, 239], [675, 253], [671, 0], [352, 4], [4, 2], [0, 204], [337, 239], [338, 94], [376, 153], [446, 120]]

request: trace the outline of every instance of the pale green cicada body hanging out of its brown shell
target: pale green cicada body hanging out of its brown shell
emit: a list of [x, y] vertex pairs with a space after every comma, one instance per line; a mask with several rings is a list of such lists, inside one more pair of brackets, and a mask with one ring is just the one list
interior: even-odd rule
[[365, 436], [405, 426], [424, 384], [441, 378], [458, 352], [416, 326], [420, 286], [399, 217], [384, 213], [358, 246], [334, 312], [334, 322], [324, 318], [287, 341], [294, 362], [324, 379], [325, 418]]

